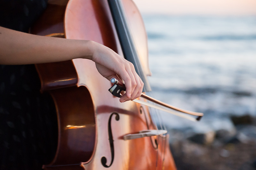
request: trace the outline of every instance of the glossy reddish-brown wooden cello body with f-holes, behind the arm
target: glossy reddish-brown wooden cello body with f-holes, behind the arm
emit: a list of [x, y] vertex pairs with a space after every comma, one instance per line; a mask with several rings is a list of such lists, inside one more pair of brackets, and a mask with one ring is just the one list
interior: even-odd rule
[[[142, 22], [133, 2], [123, 3], [130, 11], [128, 18], [136, 17], [134, 22]], [[141, 29], [145, 31], [144, 27]], [[49, 0], [31, 33], [93, 40], [123, 54], [107, 0]], [[145, 34], [135, 41], [139, 48], [147, 47]], [[147, 49], [140, 53], [147, 55]], [[37, 64], [36, 68], [41, 90], [51, 94], [58, 116], [56, 154], [44, 169], [176, 169], [168, 135], [124, 140], [124, 135], [156, 126], [146, 106], [120, 103], [108, 92], [111, 83], [98, 73], [91, 60]]]

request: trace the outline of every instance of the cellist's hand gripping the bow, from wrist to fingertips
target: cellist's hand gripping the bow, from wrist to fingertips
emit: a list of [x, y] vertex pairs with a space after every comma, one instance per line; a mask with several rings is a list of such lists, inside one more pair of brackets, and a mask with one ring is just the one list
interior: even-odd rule
[[126, 93], [120, 98], [120, 102], [134, 100], [140, 97], [144, 83], [136, 73], [133, 64], [110, 48], [92, 42], [93, 48], [92, 61], [95, 62], [99, 73], [109, 81], [116, 78], [124, 81]]

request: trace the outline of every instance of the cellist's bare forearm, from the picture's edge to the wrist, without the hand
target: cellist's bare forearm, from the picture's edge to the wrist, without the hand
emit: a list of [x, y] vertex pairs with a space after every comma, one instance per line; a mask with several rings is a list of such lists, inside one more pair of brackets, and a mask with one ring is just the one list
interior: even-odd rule
[[92, 41], [37, 36], [0, 27], [0, 64], [92, 59]]

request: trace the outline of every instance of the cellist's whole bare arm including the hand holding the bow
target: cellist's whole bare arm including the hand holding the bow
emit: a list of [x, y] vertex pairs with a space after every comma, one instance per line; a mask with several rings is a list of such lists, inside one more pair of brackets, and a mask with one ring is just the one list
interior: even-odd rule
[[106, 46], [90, 40], [37, 36], [0, 27], [0, 64], [37, 64], [76, 58], [94, 61], [99, 73], [108, 80], [123, 79], [126, 95], [120, 98], [121, 102], [140, 96], [143, 82], [132, 63]]

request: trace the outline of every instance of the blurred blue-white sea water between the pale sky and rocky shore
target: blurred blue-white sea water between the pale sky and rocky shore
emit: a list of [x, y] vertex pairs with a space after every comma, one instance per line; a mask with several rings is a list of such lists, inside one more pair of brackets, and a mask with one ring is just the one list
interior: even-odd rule
[[152, 96], [203, 112], [199, 122], [160, 111], [172, 129], [232, 129], [230, 116], [256, 116], [256, 16], [142, 15]]

